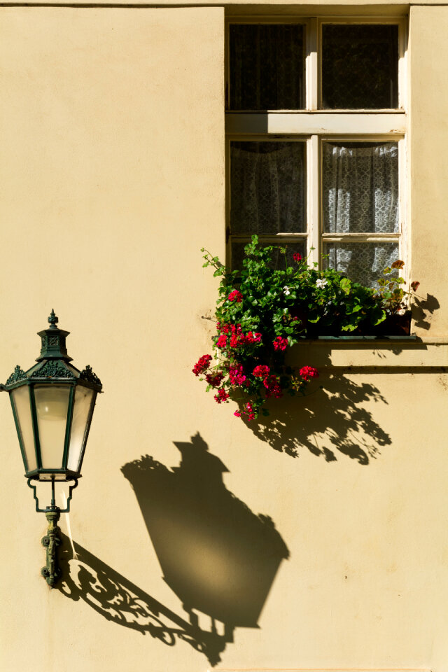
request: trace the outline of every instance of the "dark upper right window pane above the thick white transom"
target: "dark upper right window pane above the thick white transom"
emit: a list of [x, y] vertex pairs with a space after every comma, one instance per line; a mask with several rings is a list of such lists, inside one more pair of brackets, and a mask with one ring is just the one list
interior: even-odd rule
[[322, 27], [324, 109], [398, 107], [398, 26]]

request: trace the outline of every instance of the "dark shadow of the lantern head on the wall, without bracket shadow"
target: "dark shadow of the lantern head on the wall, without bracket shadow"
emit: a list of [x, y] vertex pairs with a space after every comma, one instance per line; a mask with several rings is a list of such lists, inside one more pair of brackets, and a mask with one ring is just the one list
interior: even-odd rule
[[223, 483], [223, 462], [199, 434], [174, 442], [171, 470], [144, 456], [125, 465], [164, 579], [193, 610], [225, 624], [258, 627], [258, 618], [288, 549], [272, 519], [255, 515]]

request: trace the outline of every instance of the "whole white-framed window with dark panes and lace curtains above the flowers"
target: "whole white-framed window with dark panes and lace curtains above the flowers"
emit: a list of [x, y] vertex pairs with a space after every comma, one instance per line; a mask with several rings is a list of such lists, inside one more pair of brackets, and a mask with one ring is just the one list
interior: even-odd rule
[[254, 233], [369, 285], [406, 258], [405, 27], [228, 21], [232, 267]]

